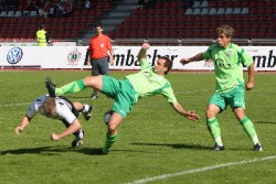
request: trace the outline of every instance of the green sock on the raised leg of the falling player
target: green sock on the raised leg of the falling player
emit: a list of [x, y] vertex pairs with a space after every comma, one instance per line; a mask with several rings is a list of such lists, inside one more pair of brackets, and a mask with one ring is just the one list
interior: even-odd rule
[[86, 86], [84, 84], [84, 80], [78, 79], [78, 80], [72, 82], [67, 85], [64, 85], [62, 87], [55, 88], [55, 95], [60, 96], [60, 95], [64, 95], [64, 94], [73, 94], [73, 93], [81, 91], [85, 88], [86, 88]]

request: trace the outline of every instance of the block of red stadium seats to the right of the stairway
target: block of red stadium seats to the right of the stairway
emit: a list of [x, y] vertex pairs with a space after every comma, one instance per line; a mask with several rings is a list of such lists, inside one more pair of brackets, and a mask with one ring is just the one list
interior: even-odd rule
[[[160, 9], [166, 9], [167, 13], [159, 13], [163, 12]], [[183, 1], [173, 1], [166, 6], [158, 1], [152, 8], [134, 10], [130, 17], [121, 23], [125, 30], [130, 28], [130, 31], [128, 29], [126, 34], [119, 36], [129, 36], [127, 33], [131, 33], [134, 24], [138, 24], [136, 28], [139, 28], [141, 32], [145, 32], [144, 29], [155, 32], [156, 25], [170, 25], [167, 31], [162, 31], [166, 35], [152, 34], [144, 35], [144, 37], [206, 39], [215, 37], [214, 29], [222, 23], [227, 23], [241, 33], [236, 35], [240, 39], [273, 39], [276, 37], [275, 21], [276, 1], [273, 0], [203, 0], [193, 1], [188, 9], [184, 9]], [[184, 22], [184, 25], [179, 29], [176, 22], [178, 25]], [[142, 24], [153, 24], [153, 26], [144, 28]], [[119, 28], [120, 25], [117, 25], [117, 29]], [[118, 39], [118, 35], [116, 37]]]

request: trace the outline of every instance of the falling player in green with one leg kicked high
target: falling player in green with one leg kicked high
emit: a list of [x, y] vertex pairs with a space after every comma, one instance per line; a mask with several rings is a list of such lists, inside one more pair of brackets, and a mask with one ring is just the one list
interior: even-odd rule
[[170, 83], [164, 78], [172, 67], [172, 62], [168, 57], [159, 57], [155, 68], [146, 59], [146, 52], [150, 47], [144, 43], [138, 53], [141, 71], [137, 74], [128, 75], [125, 79], [115, 79], [110, 76], [98, 75], [88, 76], [84, 79], [72, 82], [63, 87], [55, 88], [52, 82], [46, 78], [46, 87], [50, 95], [60, 96], [64, 94], [77, 93], [86, 87], [92, 87], [102, 91], [107, 97], [113, 98], [112, 117], [107, 123], [106, 142], [102, 152], [108, 153], [113, 143], [118, 139], [117, 128], [127, 117], [132, 106], [141, 97], [162, 95], [167, 98], [171, 107], [183, 117], [190, 120], [199, 120], [200, 116], [193, 110], [187, 111], [178, 101]]

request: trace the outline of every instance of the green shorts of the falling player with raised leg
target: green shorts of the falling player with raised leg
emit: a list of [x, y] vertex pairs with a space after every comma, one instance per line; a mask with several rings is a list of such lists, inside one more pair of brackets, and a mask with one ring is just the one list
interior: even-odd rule
[[126, 118], [135, 104], [136, 91], [128, 79], [115, 79], [103, 75], [102, 93], [107, 97], [113, 98], [112, 110]]

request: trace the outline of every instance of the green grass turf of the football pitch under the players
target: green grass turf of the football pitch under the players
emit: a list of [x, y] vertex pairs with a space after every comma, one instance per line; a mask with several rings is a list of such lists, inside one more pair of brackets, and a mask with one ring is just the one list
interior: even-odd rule
[[[217, 117], [225, 151], [210, 151], [214, 143], [205, 127], [204, 109], [214, 88], [212, 73], [168, 76], [178, 100], [184, 108], [197, 110], [202, 117], [200, 121], [177, 115], [161, 96], [141, 99], [119, 127], [119, 140], [108, 155], [96, 155], [95, 151], [105, 142], [103, 115], [113, 101], [104, 95], [92, 101], [92, 89], [66, 96], [95, 106], [92, 120], [79, 117], [85, 130], [82, 148], [71, 148], [72, 136], [51, 141], [50, 134], [64, 127], [42, 116], [34, 117], [15, 136], [14, 128], [28, 105], [46, 93], [46, 76], [62, 86], [89, 74], [89, 71], [0, 72], [1, 184], [120, 184], [139, 180], [142, 183], [152, 177], [157, 180], [149, 183], [276, 183], [276, 75], [272, 74], [257, 73], [255, 88], [246, 91], [246, 113], [255, 123], [263, 152], [253, 151], [251, 140], [230, 109]], [[126, 74], [129, 72], [110, 75], [123, 78]], [[262, 160], [267, 156], [272, 158]], [[238, 164], [225, 166], [227, 163]], [[224, 166], [214, 169], [215, 165]]]

